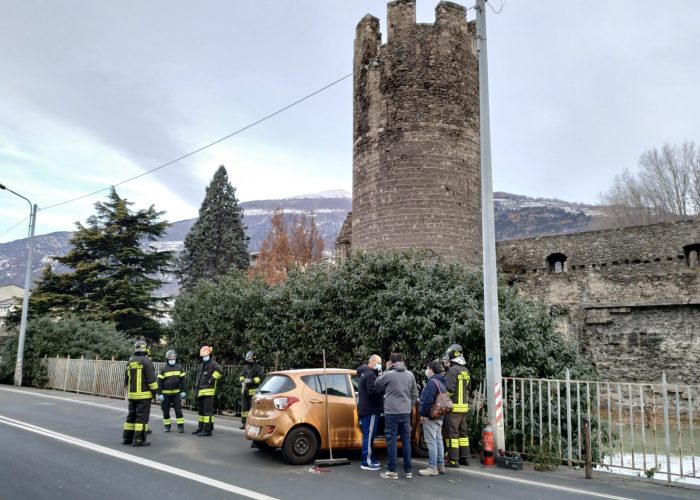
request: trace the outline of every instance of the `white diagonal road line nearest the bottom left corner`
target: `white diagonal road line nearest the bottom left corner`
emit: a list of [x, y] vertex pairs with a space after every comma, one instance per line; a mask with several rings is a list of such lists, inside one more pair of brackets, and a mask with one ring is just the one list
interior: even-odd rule
[[108, 455], [110, 457], [119, 458], [127, 462], [132, 462], [135, 464], [143, 465], [145, 467], [150, 467], [151, 469], [167, 472], [168, 474], [173, 474], [175, 476], [189, 479], [191, 481], [206, 484], [207, 486], [228, 491], [230, 493], [235, 493], [236, 495], [241, 495], [247, 498], [253, 498], [255, 500], [277, 500], [275, 497], [271, 497], [263, 493], [258, 493], [257, 491], [242, 488], [240, 486], [236, 486], [230, 483], [224, 483], [223, 481], [218, 481], [216, 479], [207, 476], [202, 476], [200, 474], [195, 474], [194, 472], [190, 472], [185, 469], [179, 469], [177, 467], [162, 464], [154, 460], [130, 455], [129, 453], [124, 453], [123, 451], [107, 448], [106, 446], [101, 446], [99, 444], [91, 443], [89, 441], [83, 441], [82, 439], [74, 438], [66, 434], [60, 434], [50, 429], [44, 429], [43, 427], [37, 427], [35, 425], [27, 424], [25, 422], [5, 417], [3, 415], [0, 415], [0, 424], [9, 425], [11, 427], [16, 427], [18, 429], [22, 429], [28, 432], [33, 432], [35, 434], [40, 434], [42, 436], [50, 437], [58, 441], [63, 441], [64, 443], [72, 444], [74, 446], [79, 446], [81, 448], [95, 451], [103, 455]]

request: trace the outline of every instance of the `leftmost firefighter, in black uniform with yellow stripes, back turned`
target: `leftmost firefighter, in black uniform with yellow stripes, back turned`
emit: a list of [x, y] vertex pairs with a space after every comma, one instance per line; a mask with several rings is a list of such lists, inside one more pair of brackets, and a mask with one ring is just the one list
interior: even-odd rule
[[123, 444], [133, 446], [150, 446], [146, 441], [148, 417], [151, 413], [151, 399], [158, 390], [153, 362], [146, 355], [148, 346], [143, 340], [134, 344], [134, 355], [129, 358], [124, 374], [127, 388], [129, 414], [124, 424]]

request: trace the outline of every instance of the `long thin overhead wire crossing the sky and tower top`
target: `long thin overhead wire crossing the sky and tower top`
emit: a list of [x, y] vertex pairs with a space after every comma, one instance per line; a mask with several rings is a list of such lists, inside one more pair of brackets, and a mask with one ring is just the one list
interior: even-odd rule
[[[504, 2], [504, 4], [505, 4], [505, 2]], [[475, 8], [474, 6], [469, 7], [468, 9], [466, 9], [466, 12], [468, 12], [468, 11], [474, 9], [474, 8]], [[501, 9], [502, 9], [502, 8], [503, 8], [503, 6], [501, 6]], [[423, 33], [421, 33], [420, 35], [418, 35], [417, 37], [412, 38], [412, 39], [410, 39], [410, 40], [407, 40], [406, 42], [402, 43], [401, 45], [399, 45], [399, 46], [397, 46], [397, 47], [394, 47], [392, 50], [386, 51], [384, 54], [382, 54], [382, 55], [380, 55], [379, 57], [377, 57], [377, 59], [380, 59], [381, 57], [384, 57], [384, 56], [391, 55], [391, 54], [393, 54], [393, 53], [395, 53], [395, 52], [397, 52], [397, 51], [403, 49], [403, 48], [406, 47], [407, 45], [409, 45], [409, 44], [411, 44], [411, 43], [413, 43], [413, 42], [415, 42], [415, 41], [417, 41], [417, 40], [420, 40], [421, 38], [426, 37], [428, 34], [432, 33], [433, 31], [435, 31], [435, 30], [436, 30], [437, 28], [439, 28], [439, 27], [440, 27], [440, 26], [436, 24], [435, 26], [433, 26], [432, 29], [426, 30], [425, 32], [423, 32]], [[202, 146], [202, 147], [199, 147], [199, 148], [195, 149], [194, 151], [190, 151], [190, 152], [187, 153], [187, 154], [184, 154], [184, 155], [182, 155], [182, 156], [179, 156], [178, 158], [175, 158], [174, 160], [170, 160], [170, 161], [167, 162], [167, 163], [163, 163], [162, 165], [159, 165], [159, 166], [157, 166], [157, 167], [154, 167], [154, 168], [151, 168], [151, 169], [149, 169], [149, 170], [146, 170], [145, 172], [142, 172], [142, 173], [140, 173], [139, 175], [135, 175], [135, 176], [133, 176], [133, 177], [129, 177], [128, 179], [124, 179], [123, 181], [120, 181], [120, 182], [117, 182], [117, 183], [115, 183], [115, 184], [112, 184], [111, 186], [106, 186], [106, 187], [103, 187], [103, 188], [98, 189], [98, 190], [96, 190], [96, 191], [93, 191], [93, 192], [91, 192], [91, 193], [87, 193], [87, 194], [84, 194], [84, 195], [81, 195], [81, 196], [77, 196], [77, 197], [75, 197], [75, 198], [71, 198], [71, 199], [69, 199], [69, 200], [61, 201], [61, 202], [59, 202], [59, 203], [54, 203], [53, 205], [48, 205], [48, 206], [46, 206], [46, 207], [41, 207], [41, 208], [39, 208], [39, 210], [50, 210], [50, 209], [52, 209], [52, 208], [60, 207], [60, 206], [62, 206], [62, 205], [67, 205], [67, 204], [69, 204], [69, 203], [73, 203], [73, 202], [78, 201], [78, 200], [82, 200], [82, 199], [85, 199], [85, 198], [89, 198], [90, 196], [94, 196], [94, 195], [96, 195], [96, 194], [102, 193], [102, 192], [107, 191], [108, 189], [111, 189], [111, 188], [113, 188], [113, 187], [121, 186], [122, 184], [126, 184], [127, 182], [131, 182], [131, 181], [136, 180], [136, 179], [138, 179], [138, 178], [140, 178], [140, 177], [144, 177], [144, 176], [149, 175], [149, 174], [151, 174], [151, 173], [153, 173], [153, 172], [156, 172], [157, 170], [161, 170], [161, 169], [163, 169], [163, 168], [169, 167], [169, 166], [173, 165], [174, 163], [177, 163], [177, 162], [179, 162], [179, 161], [181, 161], [181, 160], [184, 160], [185, 158], [189, 158], [190, 156], [193, 156], [193, 155], [195, 155], [195, 154], [197, 154], [197, 153], [200, 153], [200, 152], [204, 151], [205, 149], [208, 149], [208, 148], [210, 148], [210, 147], [212, 147], [212, 146], [215, 146], [216, 144], [219, 144], [220, 142], [223, 142], [223, 141], [225, 141], [225, 140], [227, 140], [227, 139], [230, 139], [231, 137], [234, 137], [234, 136], [236, 136], [236, 135], [238, 135], [238, 134], [240, 134], [240, 133], [242, 133], [242, 132], [245, 132], [246, 130], [248, 130], [248, 129], [250, 129], [250, 128], [253, 128], [253, 127], [255, 127], [256, 125], [259, 125], [259, 124], [261, 124], [261, 123], [263, 123], [263, 122], [269, 120], [270, 118], [273, 118], [273, 117], [279, 115], [280, 113], [283, 113], [283, 112], [287, 111], [288, 109], [293, 108], [294, 106], [296, 106], [296, 105], [298, 105], [298, 104], [301, 104], [302, 102], [304, 102], [304, 101], [306, 101], [306, 100], [308, 100], [308, 99], [311, 99], [312, 97], [314, 97], [314, 96], [320, 94], [321, 92], [324, 92], [324, 91], [330, 89], [331, 87], [334, 87], [335, 85], [337, 85], [337, 84], [339, 84], [339, 83], [341, 83], [341, 82], [347, 80], [348, 78], [350, 78], [350, 77], [353, 76], [354, 74], [355, 74], [355, 72], [353, 71], [353, 72], [351, 72], [351, 73], [348, 73], [347, 75], [341, 76], [340, 78], [338, 78], [338, 79], [336, 79], [336, 80], [334, 80], [334, 81], [332, 81], [332, 82], [330, 82], [330, 83], [324, 85], [323, 87], [321, 87], [321, 88], [319, 88], [319, 89], [317, 89], [317, 90], [311, 92], [310, 94], [307, 94], [307, 95], [305, 95], [304, 97], [301, 97], [300, 99], [297, 99], [296, 101], [294, 101], [294, 102], [292, 102], [292, 103], [290, 103], [290, 104], [287, 104], [286, 106], [284, 106], [284, 107], [282, 107], [282, 108], [279, 108], [277, 111], [274, 111], [274, 112], [270, 113], [269, 115], [266, 115], [266, 116], [264, 116], [264, 117], [262, 117], [262, 118], [260, 118], [260, 119], [258, 119], [258, 120], [256, 120], [256, 121], [252, 122], [252, 123], [249, 123], [248, 125], [246, 125], [246, 126], [244, 126], [244, 127], [241, 127], [241, 128], [239, 128], [238, 130], [235, 130], [234, 132], [231, 132], [230, 134], [225, 135], [225, 136], [223, 136], [223, 137], [221, 137], [221, 138], [219, 138], [219, 139], [217, 139], [217, 140], [215, 140], [215, 141], [212, 141], [212, 142], [210, 142], [209, 144], [206, 144], [206, 145], [204, 145], [204, 146]]]

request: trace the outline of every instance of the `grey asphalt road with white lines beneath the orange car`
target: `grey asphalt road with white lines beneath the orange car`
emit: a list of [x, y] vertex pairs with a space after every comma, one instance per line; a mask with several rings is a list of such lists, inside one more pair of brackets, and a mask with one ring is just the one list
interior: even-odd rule
[[[238, 420], [218, 419], [212, 438], [164, 434], [160, 410], [151, 416], [152, 446], [121, 445], [123, 401], [0, 386], [0, 499], [124, 498], [698, 498], [698, 490], [580, 473], [543, 474], [474, 465], [445, 476], [386, 480], [352, 464], [310, 471], [279, 454], [250, 448]], [[400, 466], [399, 466], [400, 467]]]

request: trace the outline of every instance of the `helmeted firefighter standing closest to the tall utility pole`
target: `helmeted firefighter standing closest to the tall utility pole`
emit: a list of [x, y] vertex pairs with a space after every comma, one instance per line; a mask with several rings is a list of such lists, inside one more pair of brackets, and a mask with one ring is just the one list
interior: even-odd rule
[[445, 415], [448, 460], [447, 467], [457, 468], [469, 465], [469, 429], [467, 412], [469, 411], [469, 370], [462, 355], [462, 346], [452, 344], [447, 349], [450, 369], [447, 371], [447, 393], [452, 398], [452, 411]]

